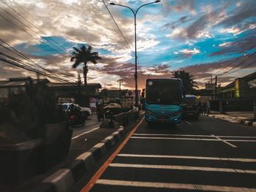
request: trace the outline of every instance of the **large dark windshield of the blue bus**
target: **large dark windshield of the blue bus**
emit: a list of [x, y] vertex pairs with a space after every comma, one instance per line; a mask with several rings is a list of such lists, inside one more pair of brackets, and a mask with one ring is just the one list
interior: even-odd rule
[[181, 104], [181, 81], [148, 80], [146, 102], [148, 104]]

